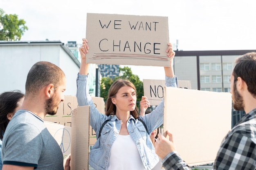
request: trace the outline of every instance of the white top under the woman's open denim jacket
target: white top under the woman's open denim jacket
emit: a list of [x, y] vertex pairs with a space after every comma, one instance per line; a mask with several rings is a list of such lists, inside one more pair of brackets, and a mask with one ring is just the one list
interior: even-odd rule
[[107, 170], [145, 170], [139, 150], [130, 135], [118, 135], [115, 139]]

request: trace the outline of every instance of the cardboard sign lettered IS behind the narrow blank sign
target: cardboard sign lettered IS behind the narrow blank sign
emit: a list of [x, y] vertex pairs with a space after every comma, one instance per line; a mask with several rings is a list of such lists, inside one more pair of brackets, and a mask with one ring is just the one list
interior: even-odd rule
[[[99, 110], [100, 113], [105, 114], [105, 102], [101, 97], [92, 97], [94, 106]], [[45, 116], [45, 121], [62, 124], [65, 126], [72, 126], [71, 117], [72, 109], [78, 107], [76, 96], [65, 96], [64, 102], [61, 102], [58, 107], [56, 115]], [[89, 122], [90, 124], [90, 122]], [[90, 145], [94, 145], [96, 142], [96, 133], [90, 126]]]

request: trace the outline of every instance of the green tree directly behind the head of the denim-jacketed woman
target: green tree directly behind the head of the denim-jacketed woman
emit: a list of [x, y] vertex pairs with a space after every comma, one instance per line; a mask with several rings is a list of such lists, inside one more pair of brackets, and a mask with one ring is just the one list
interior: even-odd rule
[[119, 68], [121, 76], [117, 76], [115, 78], [103, 77], [101, 78], [101, 97], [104, 98], [104, 101], [107, 102], [108, 99], [108, 91], [113, 82], [115, 82], [118, 78], [126, 78], [130, 82], [132, 82], [137, 90], [137, 107], [139, 107], [139, 102], [141, 97], [143, 96], [143, 82], [139, 80], [139, 76], [132, 74], [131, 68], [125, 66], [124, 68]]

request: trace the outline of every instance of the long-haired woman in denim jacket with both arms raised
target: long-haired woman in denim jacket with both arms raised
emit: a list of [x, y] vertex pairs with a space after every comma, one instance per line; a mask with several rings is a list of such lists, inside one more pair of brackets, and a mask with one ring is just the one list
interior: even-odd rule
[[[96, 170], [152, 169], [159, 159], [148, 134], [163, 124], [164, 102], [152, 111], [153, 114], [138, 116], [135, 86], [128, 80], [119, 79], [109, 89], [106, 114], [99, 113], [89, 94], [89, 64], [85, 57], [89, 50], [87, 43], [87, 39], [83, 39], [79, 48], [81, 66], [76, 82], [76, 97], [79, 106], [90, 105], [90, 125], [97, 135], [97, 142], [90, 151], [90, 166]], [[170, 43], [166, 53], [171, 63], [170, 67], [164, 67], [166, 86], [177, 87], [172, 66], [175, 52]], [[147, 107], [149, 103], [145, 104], [144, 109]]]

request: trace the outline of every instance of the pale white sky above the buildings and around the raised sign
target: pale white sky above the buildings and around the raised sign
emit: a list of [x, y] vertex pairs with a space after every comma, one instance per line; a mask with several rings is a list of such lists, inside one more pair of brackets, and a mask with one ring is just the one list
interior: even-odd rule
[[[255, 0], [0, 0], [29, 28], [21, 41], [76, 41], [86, 37], [87, 13], [167, 16], [169, 40], [179, 50], [256, 49]], [[132, 66], [143, 79], [164, 79], [164, 69]]]

